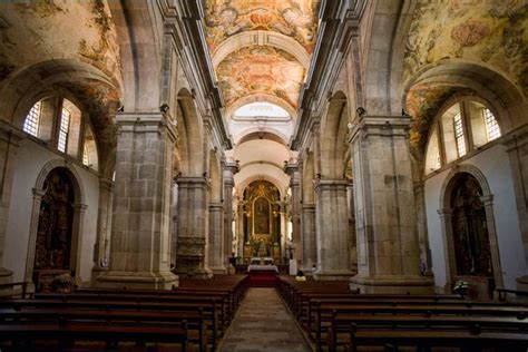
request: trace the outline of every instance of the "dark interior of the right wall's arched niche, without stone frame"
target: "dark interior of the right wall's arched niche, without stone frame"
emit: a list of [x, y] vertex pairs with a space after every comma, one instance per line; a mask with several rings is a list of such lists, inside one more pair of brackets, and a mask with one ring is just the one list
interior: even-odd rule
[[486, 277], [493, 286], [486, 208], [482, 188], [468, 173], [458, 176], [451, 190], [452, 235], [458, 276]]

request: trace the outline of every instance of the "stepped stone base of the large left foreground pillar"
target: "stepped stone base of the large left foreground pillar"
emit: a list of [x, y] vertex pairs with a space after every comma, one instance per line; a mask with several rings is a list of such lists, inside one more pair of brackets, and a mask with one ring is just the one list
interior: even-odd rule
[[97, 287], [170, 290], [179, 278], [170, 272], [113, 272], [97, 277]]

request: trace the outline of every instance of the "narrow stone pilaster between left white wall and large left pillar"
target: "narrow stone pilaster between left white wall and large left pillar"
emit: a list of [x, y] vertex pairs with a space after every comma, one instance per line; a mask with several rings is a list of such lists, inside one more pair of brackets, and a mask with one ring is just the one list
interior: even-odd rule
[[99, 209], [97, 213], [97, 238], [94, 248], [94, 267], [91, 280], [108, 270], [108, 250], [110, 244], [111, 212], [114, 199], [114, 182], [106, 177], [99, 177]]

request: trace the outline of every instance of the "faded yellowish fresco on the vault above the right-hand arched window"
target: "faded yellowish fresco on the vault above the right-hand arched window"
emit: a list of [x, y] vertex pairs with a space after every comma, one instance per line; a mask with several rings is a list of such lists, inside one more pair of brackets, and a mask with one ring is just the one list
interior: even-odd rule
[[404, 80], [443, 58], [492, 66], [528, 92], [528, 3], [524, 0], [421, 1], [411, 23]]

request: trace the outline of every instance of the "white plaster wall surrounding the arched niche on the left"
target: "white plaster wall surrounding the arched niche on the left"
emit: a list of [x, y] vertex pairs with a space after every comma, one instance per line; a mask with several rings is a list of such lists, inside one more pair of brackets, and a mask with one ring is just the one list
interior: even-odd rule
[[[52, 159], [60, 160], [61, 157], [30, 139], [22, 140], [18, 149], [2, 263], [4, 267], [13, 271], [13, 281], [31, 278], [23, 277], [23, 275], [29, 251], [32, 189], [43, 166]], [[99, 178], [84, 167], [77, 165], [74, 167], [80, 177], [79, 184], [84, 194], [84, 204], [87, 205], [81, 225], [82, 234], [79, 236], [81, 243], [79, 275], [86, 282], [90, 280], [94, 244], [96, 242]]]

